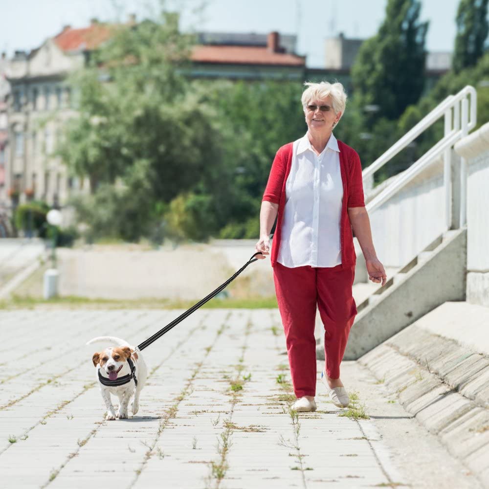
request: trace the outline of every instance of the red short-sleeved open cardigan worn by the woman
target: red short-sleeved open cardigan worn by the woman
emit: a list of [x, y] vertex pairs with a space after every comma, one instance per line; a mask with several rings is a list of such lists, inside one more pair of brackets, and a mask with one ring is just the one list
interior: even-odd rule
[[[278, 204], [277, 226], [273, 236], [271, 264], [277, 263], [278, 250], [282, 234], [282, 218], [285, 209], [285, 184], [289, 177], [292, 165], [292, 144], [282, 146], [275, 155], [268, 177], [267, 187], [263, 194], [263, 200]], [[338, 141], [339, 163], [341, 179], [343, 181], [343, 205], [341, 208], [341, 265], [352, 267], [356, 262], [355, 247], [353, 245], [353, 232], [348, 217], [348, 207], [364, 207], [362, 166], [360, 157], [353, 148], [342, 141]]]

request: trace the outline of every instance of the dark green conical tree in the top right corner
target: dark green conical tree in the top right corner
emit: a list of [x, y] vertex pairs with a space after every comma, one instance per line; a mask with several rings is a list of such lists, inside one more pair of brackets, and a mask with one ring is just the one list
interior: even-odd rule
[[484, 53], [489, 33], [488, 0], [461, 0], [457, 10], [457, 37], [453, 55], [456, 73], [474, 66]]

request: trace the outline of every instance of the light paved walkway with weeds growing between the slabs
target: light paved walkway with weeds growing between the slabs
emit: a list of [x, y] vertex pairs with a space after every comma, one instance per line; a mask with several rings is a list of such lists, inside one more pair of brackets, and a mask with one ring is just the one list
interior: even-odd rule
[[[104, 421], [91, 363], [98, 346], [85, 342], [113, 334], [137, 344], [178, 313], [0, 311], [1, 486], [478, 487], [470, 474], [445, 461], [439, 447], [423, 441], [427, 454], [415, 453], [417, 446], [406, 454], [406, 447], [384, 443], [375, 419], [340, 417], [320, 383], [318, 411], [290, 413], [288, 362], [276, 310], [192, 314], [144, 350], [150, 377], [137, 416]], [[346, 364], [343, 379], [350, 386], [369, 382], [380, 402], [382, 386], [361, 369]], [[359, 396], [361, 403], [364, 394]], [[399, 419], [403, 433], [418, 433], [417, 422], [395, 401], [381, 402], [382, 416], [375, 418]], [[410, 443], [411, 435], [403, 436]], [[391, 438], [402, 447], [399, 437], [397, 432]], [[410, 462], [416, 456], [435, 457], [455, 485], [444, 485], [437, 467], [435, 484], [420, 483], [415, 467], [398, 470], [402, 463], [418, 464]]]

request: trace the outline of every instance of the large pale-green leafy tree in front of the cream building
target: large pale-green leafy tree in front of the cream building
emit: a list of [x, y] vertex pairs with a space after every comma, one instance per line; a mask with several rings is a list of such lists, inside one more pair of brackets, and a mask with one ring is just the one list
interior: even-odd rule
[[[89, 176], [92, 195], [76, 205], [93, 238], [149, 236], [180, 194], [192, 192], [195, 201], [225, 182], [215, 110], [206, 92], [179, 74], [191, 41], [167, 13], [114, 26], [73, 80], [78, 117], [67, 124], [59, 152], [73, 174]], [[216, 208], [211, 200], [207, 208]], [[218, 223], [204, 227], [206, 236]]]

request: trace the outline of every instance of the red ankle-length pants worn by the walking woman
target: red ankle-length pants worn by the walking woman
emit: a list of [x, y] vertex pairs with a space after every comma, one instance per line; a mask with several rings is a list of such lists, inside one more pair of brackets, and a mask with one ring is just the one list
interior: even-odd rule
[[352, 296], [355, 266], [273, 267], [275, 292], [284, 325], [290, 375], [297, 398], [316, 394], [316, 305], [324, 325], [326, 374], [339, 378], [350, 328], [356, 316]]

